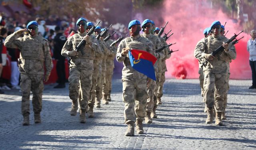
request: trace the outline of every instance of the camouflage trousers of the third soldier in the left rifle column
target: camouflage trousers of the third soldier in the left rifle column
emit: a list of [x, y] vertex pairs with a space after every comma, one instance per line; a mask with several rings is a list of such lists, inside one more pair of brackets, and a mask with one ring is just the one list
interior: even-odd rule
[[96, 104], [100, 105], [100, 100], [102, 99], [102, 87], [104, 83], [104, 76], [105, 76], [106, 71], [102, 70], [102, 66], [100, 67], [100, 72], [98, 75], [98, 80], [96, 84]]

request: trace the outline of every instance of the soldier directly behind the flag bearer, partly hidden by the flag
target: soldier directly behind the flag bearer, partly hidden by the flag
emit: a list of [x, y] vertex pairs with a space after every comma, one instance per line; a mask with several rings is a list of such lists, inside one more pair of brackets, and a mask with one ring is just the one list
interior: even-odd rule
[[[158, 36], [155, 36], [152, 34], [152, 22], [149, 19], [146, 19], [142, 22], [142, 31], [143, 34], [140, 36], [143, 36], [150, 40], [153, 43], [153, 50], [156, 50], [157, 48], [160, 47], [160, 40]], [[146, 106], [146, 118], [145, 118], [145, 123], [152, 123], [152, 118], [151, 118], [151, 112], [153, 111], [154, 105], [156, 101], [154, 102], [154, 97], [155, 93], [157, 93], [156, 87], [159, 85], [160, 81], [160, 71], [161, 71], [161, 62], [162, 58], [164, 57], [163, 53], [155, 53], [156, 58], [158, 58], [157, 62], [154, 65], [155, 68], [155, 73], [156, 73], [156, 81], [152, 81], [148, 88], [148, 99], [147, 99], [147, 106]]]

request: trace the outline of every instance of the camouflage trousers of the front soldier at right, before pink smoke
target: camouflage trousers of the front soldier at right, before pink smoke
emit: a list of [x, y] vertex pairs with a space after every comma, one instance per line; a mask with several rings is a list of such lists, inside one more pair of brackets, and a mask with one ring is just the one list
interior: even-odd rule
[[208, 108], [213, 108], [215, 102], [216, 112], [222, 112], [224, 108], [224, 95], [228, 91], [226, 80], [226, 73], [204, 71], [204, 100]]

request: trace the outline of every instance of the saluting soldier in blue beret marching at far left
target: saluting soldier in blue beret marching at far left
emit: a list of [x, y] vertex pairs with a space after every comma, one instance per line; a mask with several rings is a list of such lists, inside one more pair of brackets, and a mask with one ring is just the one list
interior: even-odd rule
[[[20, 37], [24, 32], [28, 35]], [[33, 92], [32, 104], [34, 122], [41, 123], [43, 81], [49, 79], [52, 70], [52, 57], [46, 39], [38, 36], [38, 23], [31, 21], [26, 29], [20, 29], [9, 35], [4, 45], [8, 48], [20, 49], [20, 88], [22, 92], [21, 111], [24, 117], [22, 125], [29, 125], [29, 97]], [[44, 66], [46, 71], [44, 70]]]

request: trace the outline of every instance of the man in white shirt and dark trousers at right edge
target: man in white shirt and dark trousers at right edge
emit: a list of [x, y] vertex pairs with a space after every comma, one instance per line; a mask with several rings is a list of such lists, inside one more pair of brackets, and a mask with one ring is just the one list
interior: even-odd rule
[[250, 54], [249, 60], [250, 60], [250, 67], [252, 69], [252, 86], [249, 88], [256, 88], [256, 31], [251, 31], [251, 37], [250, 40], [247, 42], [247, 51]]

